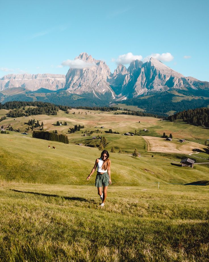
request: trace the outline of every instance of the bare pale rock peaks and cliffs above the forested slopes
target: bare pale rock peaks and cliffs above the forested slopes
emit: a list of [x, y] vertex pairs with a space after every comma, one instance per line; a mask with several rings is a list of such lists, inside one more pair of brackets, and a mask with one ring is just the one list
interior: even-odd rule
[[84, 62], [84, 68], [70, 68], [66, 76], [6, 75], [0, 79], [0, 91], [11, 87], [24, 87], [31, 91], [39, 88], [53, 91], [62, 89], [77, 95], [92, 93], [97, 98], [101, 98], [102, 94], [110, 93], [112, 99], [124, 100], [152, 91], [209, 89], [209, 82], [185, 77], [155, 58], [150, 58], [149, 62], [145, 63], [135, 60], [128, 68], [118, 64], [114, 73], [110, 72], [105, 62], [96, 60], [87, 53], [81, 53], [75, 58], [77, 59]]

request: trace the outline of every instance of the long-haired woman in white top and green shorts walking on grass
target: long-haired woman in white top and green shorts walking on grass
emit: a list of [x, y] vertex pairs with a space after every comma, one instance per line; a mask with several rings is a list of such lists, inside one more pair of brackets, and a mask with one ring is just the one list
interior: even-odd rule
[[[91, 170], [90, 175], [87, 177], [87, 180], [90, 179], [91, 175], [97, 168], [97, 176], [95, 181], [95, 187], [98, 189], [98, 195], [100, 196], [102, 203], [100, 204], [101, 207], [105, 205], [105, 199], [107, 197], [107, 187], [108, 184], [111, 185], [111, 178], [110, 178], [110, 159], [109, 153], [107, 150], [103, 150], [101, 153], [101, 157], [97, 158], [95, 161], [95, 165]], [[102, 192], [103, 186], [103, 192]]]

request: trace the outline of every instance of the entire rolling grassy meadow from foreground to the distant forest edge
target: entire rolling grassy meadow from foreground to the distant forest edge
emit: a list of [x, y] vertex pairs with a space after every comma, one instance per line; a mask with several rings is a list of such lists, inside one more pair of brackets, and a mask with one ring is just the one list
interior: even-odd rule
[[[0, 117], [5, 113], [0, 110]], [[148, 152], [145, 141], [172, 133], [175, 148], [184, 144], [176, 140], [185, 138], [185, 145], [204, 151], [207, 129], [76, 109], [9, 118], [0, 125], [24, 132], [24, 122], [33, 118], [43, 121], [45, 130], [67, 133], [70, 143], [32, 138], [31, 131], [0, 134], [0, 261], [209, 261], [208, 186], [185, 185], [209, 181], [209, 164], [181, 167], [190, 151]], [[57, 121], [68, 126], [55, 126]], [[85, 128], [68, 134], [75, 124]], [[120, 134], [106, 133], [109, 128]], [[99, 139], [84, 137], [85, 130], [106, 136], [105, 149], [116, 148], [110, 153], [112, 185], [103, 209], [95, 174], [86, 181], [101, 153], [93, 147]], [[135, 130], [139, 136], [122, 135]], [[135, 147], [141, 157], [131, 155]], [[206, 158], [207, 151], [199, 152], [196, 163]]]

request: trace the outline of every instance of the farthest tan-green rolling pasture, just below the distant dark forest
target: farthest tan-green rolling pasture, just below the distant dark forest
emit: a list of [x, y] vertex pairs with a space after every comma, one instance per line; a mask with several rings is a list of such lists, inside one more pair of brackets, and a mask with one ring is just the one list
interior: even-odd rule
[[[74, 114], [75, 112], [75, 114]], [[5, 115], [7, 110], [0, 110], [0, 117]], [[181, 139], [184, 138], [189, 141], [197, 140], [196, 142], [204, 143], [205, 140], [209, 138], [209, 129], [193, 126], [186, 124], [181, 120], [177, 120], [174, 122], [161, 120], [153, 117], [140, 117], [140, 116], [131, 116], [131, 115], [114, 115], [113, 112], [101, 112], [94, 110], [83, 110], [83, 109], [72, 109], [69, 110], [69, 114], [66, 112], [59, 110], [56, 116], [52, 115], [35, 115], [28, 117], [17, 117], [8, 118], [6, 120], [1, 121], [1, 126], [11, 126], [14, 129], [20, 128], [21, 132], [25, 132], [28, 125], [25, 124], [30, 119], [39, 120], [39, 123], [43, 122], [44, 130], [52, 131], [57, 130], [59, 133], [67, 134], [68, 129], [72, 128], [74, 125], [84, 125], [85, 130], [93, 130], [96, 133], [97, 128], [99, 128], [99, 132], [108, 131], [110, 128], [112, 131], [119, 132], [120, 134], [124, 134], [126, 132], [135, 133], [140, 136], [156, 136], [161, 137], [163, 132], [165, 132], [168, 136], [171, 133], [173, 138]], [[67, 122], [67, 126], [57, 126], [57, 121], [64, 123]], [[139, 123], [140, 121], [140, 123]], [[101, 126], [104, 126], [104, 129], [101, 129]], [[95, 128], [97, 127], [97, 128]], [[143, 131], [146, 128], [147, 132]], [[80, 131], [80, 132], [81, 132]], [[28, 133], [32, 133], [32, 130], [29, 130]], [[198, 141], [200, 140], [200, 141]]]

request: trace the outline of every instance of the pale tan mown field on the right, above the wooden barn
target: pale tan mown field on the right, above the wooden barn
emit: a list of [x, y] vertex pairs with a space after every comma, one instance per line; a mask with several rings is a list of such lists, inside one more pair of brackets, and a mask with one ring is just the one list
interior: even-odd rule
[[147, 142], [147, 151], [149, 152], [163, 152], [163, 153], [178, 153], [178, 154], [191, 154], [195, 149], [205, 151], [206, 146], [194, 143], [184, 142], [180, 143], [178, 140], [167, 141], [165, 138], [143, 136]]

